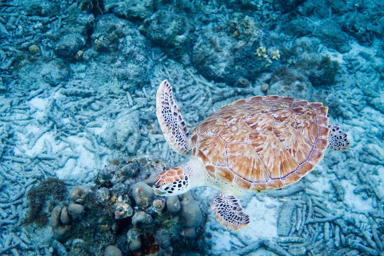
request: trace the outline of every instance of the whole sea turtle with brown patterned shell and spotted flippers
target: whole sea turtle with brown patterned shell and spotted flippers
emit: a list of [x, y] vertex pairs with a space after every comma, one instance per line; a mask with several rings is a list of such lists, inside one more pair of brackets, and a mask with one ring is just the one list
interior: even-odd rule
[[249, 224], [238, 198], [295, 183], [314, 169], [328, 145], [340, 151], [349, 146], [340, 127], [328, 124], [328, 107], [321, 102], [276, 95], [240, 99], [211, 114], [189, 136], [167, 80], [156, 100], [165, 139], [190, 160], [157, 175], [155, 194], [217, 188], [212, 213], [232, 230]]

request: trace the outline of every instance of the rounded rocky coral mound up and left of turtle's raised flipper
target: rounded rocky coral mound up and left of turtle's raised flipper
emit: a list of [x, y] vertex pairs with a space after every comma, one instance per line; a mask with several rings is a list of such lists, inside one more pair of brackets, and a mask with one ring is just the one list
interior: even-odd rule
[[[82, 56], [89, 65], [85, 70], [86, 77], [98, 79], [100, 84], [116, 83], [116, 89], [129, 91], [148, 81], [151, 63], [147, 59], [145, 39], [131, 22], [111, 14], [103, 15], [93, 28], [90, 40], [92, 48], [85, 50]], [[113, 58], [104, 61], [103, 53]], [[113, 72], [108, 75], [99, 72], [109, 65], [114, 66]]]

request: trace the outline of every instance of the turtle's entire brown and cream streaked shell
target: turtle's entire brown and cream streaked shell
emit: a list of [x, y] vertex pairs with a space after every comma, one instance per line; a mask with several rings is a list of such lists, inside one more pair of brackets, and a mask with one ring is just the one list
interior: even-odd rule
[[192, 131], [192, 155], [212, 177], [247, 192], [281, 188], [311, 172], [328, 146], [328, 107], [290, 97], [241, 99]]

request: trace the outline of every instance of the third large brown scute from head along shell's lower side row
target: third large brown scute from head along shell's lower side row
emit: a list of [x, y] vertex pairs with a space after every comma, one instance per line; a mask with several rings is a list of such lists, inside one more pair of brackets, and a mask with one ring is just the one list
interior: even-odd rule
[[272, 132], [253, 131], [249, 140], [269, 177], [283, 178], [299, 166]]

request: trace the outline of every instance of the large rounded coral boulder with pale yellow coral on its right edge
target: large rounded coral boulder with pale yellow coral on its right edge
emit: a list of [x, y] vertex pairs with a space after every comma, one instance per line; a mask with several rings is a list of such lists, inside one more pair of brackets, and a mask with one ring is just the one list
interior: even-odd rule
[[254, 81], [272, 63], [268, 55], [276, 50], [268, 47], [267, 53], [263, 42], [268, 35], [257, 24], [252, 17], [233, 14], [226, 25], [205, 26], [193, 49], [195, 68], [209, 79], [228, 84], [240, 78]]

